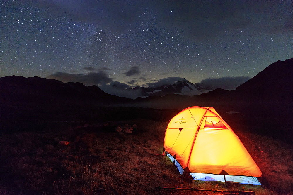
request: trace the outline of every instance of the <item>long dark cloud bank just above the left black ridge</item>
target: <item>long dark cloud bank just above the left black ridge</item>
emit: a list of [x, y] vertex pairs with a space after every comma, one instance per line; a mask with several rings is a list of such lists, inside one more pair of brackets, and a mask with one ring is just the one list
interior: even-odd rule
[[105, 72], [89, 72], [88, 74], [69, 74], [66, 72], [56, 72], [47, 76], [49, 79], [56, 79], [62, 82], [80, 82], [86, 86], [103, 85], [112, 82]]

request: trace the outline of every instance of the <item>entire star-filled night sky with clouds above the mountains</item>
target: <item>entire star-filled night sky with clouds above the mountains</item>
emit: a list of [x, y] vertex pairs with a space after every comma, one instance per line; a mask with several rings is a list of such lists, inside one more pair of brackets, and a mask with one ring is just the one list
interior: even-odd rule
[[0, 1], [0, 77], [243, 82], [293, 55], [292, 1]]

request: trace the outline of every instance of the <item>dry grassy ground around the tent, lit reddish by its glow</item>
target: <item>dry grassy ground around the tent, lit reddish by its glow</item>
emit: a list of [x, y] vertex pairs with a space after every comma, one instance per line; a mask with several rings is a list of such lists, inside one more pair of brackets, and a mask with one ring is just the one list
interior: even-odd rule
[[[47, 127], [42, 131], [2, 133], [0, 194], [208, 194], [156, 189], [159, 186], [292, 193], [292, 145], [249, 133], [247, 126], [237, 125], [242, 119], [234, 120], [234, 116], [223, 118], [231, 122], [260, 167], [265, 187], [181, 180], [178, 170], [162, 155], [172, 113], [177, 111], [168, 111], [168, 118], [104, 121], [108, 126], [68, 122], [53, 130]], [[113, 130], [123, 124], [138, 127], [130, 135]], [[69, 145], [58, 145], [62, 140], [69, 141]]]

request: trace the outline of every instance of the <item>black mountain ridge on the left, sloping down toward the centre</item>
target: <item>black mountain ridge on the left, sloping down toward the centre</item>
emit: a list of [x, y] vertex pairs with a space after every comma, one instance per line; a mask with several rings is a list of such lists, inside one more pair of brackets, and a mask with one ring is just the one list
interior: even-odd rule
[[127, 98], [110, 95], [98, 86], [82, 83], [63, 83], [40, 77], [6, 76], [0, 78], [0, 99], [11, 102], [79, 103], [95, 102], [100, 105], [123, 102]]

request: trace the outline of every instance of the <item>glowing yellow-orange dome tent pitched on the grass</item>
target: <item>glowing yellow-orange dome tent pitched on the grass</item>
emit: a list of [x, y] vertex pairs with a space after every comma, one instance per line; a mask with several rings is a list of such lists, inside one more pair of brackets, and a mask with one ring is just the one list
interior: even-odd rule
[[239, 137], [212, 107], [188, 107], [171, 119], [164, 152], [193, 180], [260, 185], [261, 171]]

